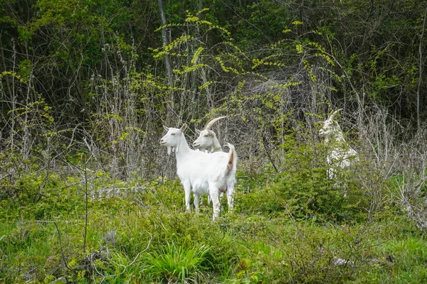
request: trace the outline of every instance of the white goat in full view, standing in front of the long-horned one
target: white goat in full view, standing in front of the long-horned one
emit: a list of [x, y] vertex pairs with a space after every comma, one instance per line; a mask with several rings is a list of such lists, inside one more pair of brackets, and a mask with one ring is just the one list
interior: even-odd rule
[[176, 173], [184, 186], [186, 210], [190, 210], [190, 195], [194, 192], [194, 207], [199, 212], [199, 199], [202, 194], [211, 197], [214, 215], [219, 216], [219, 192], [226, 192], [228, 208], [233, 209], [234, 185], [236, 184], [237, 153], [233, 145], [228, 153], [205, 153], [192, 150], [184, 137], [186, 124], [181, 129], [163, 126], [167, 133], [160, 140], [162, 146], [167, 146], [170, 154], [174, 148], [176, 156]]

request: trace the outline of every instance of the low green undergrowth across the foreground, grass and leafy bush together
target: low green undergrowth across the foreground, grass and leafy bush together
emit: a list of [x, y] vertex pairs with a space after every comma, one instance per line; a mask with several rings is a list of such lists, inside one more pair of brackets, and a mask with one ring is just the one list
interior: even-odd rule
[[372, 194], [375, 173], [357, 169], [328, 180], [295, 149], [280, 173], [239, 171], [216, 222], [206, 197], [185, 212], [178, 180], [28, 170], [2, 184], [16, 195], [1, 200], [1, 283], [424, 283], [427, 240], [379, 201], [386, 184]]

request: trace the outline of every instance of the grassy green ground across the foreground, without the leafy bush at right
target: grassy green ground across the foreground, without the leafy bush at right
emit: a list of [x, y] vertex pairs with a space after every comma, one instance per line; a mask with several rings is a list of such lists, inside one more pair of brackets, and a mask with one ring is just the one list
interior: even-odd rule
[[[266, 198], [279, 182], [249, 193], [238, 187], [235, 212], [221, 207], [216, 222], [206, 199], [199, 214], [185, 212], [176, 180], [90, 201], [84, 253], [81, 195], [63, 192], [67, 204], [56, 200], [52, 207], [50, 199], [16, 201], [1, 212], [0, 282], [426, 282], [427, 242], [398, 211], [378, 212], [369, 222], [324, 214], [297, 220]], [[337, 259], [352, 264], [336, 265]]]

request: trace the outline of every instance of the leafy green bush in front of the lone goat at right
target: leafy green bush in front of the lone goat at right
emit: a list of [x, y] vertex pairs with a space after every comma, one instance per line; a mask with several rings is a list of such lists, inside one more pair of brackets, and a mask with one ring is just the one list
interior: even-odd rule
[[336, 177], [330, 179], [327, 151], [323, 143], [297, 143], [290, 139], [280, 173], [267, 170], [244, 180], [243, 188], [251, 187], [251, 179], [264, 180], [264, 185], [236, 197], [236, 207], [243, 202], [241, 206], [246, 209], [268, 214], [286, 212], [296, 220], [364, 219], [371, 196], [360, 180], [371, 180], [374, 173], [364, 171], [362, 161], [355, 161], [352, 167], [336, 169]]

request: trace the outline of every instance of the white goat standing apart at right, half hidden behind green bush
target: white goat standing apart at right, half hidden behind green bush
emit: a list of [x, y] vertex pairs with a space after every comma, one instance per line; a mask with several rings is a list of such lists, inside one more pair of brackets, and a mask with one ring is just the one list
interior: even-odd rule
[[357, 160], [357, 152], [345, 141], [341, 128], [334, 116], [342, 109], [337, 109], [323, 122], [319, 136], [325, 137], [326, 143], [333, 143], [333, 149], [327, 154], [328, 175], [333, 179], [337, 175], [337, 168], [347, 168]]

